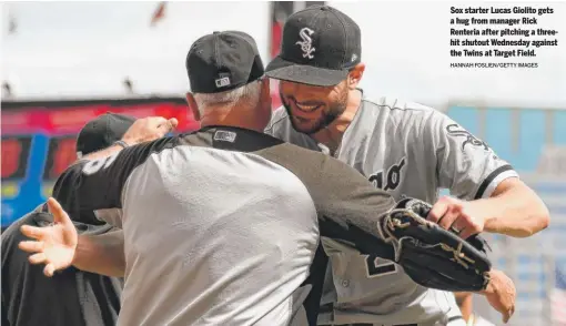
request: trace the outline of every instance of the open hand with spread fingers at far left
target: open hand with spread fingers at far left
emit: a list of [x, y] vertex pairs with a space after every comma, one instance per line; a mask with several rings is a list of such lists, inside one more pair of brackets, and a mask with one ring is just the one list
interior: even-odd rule
[[48, 206], [53, 215], [53, 225], [22, 225], [21, 233], [36, 241], [22, 241], [18, 246], [33, 254], [29, 257], [30, 264], [46, 264], [43, 274], [51, 277], [55, 271], [71, 266], [79, 235], [71, 218], [54, 198], [48, 200]]

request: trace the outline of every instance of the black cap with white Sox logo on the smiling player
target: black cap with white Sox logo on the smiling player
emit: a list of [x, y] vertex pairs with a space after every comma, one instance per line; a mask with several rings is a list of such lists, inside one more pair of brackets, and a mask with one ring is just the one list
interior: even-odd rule
[[360, 27], [329, 6], [312, 6], [289, 17], [280, 54], [267, 64], [273, 79], [332, 86], [362, 59]]

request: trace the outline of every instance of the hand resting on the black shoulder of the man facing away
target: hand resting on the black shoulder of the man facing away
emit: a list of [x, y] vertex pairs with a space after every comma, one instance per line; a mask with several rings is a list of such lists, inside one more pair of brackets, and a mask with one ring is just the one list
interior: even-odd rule
[[179, 121], [174, 118], [148, 116], [138, 119], [128, 129], [122, 141], [129, 145], [154, 141], [175, 130], [178, 124]]

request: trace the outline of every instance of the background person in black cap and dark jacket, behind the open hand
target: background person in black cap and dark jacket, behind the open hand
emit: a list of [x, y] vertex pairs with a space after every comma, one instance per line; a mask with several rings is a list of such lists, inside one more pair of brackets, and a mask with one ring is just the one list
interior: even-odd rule
[[[134, 121], [133, 118], [114, 113], [90, 121], [78, 135], [78, 156], [120, 141]], [[108, 213], [117, 212], [99, 212]], [[103, 235], [112, 238], [115, 235], [110, 224], [94, 217], [94, 212], [84, 215], [84, 222], [74, 223], [83, 236]], [[2, 325], [115, 325], [123, 286], [121, 278], [77, 268], [47, 278], [40, 266], [30, 265], [28, 255], [18, 249], [18, 243], [26, 240], [20, 233], [22, 225], [44, 227], [52, 223], [53, 216], [42, 204], [2, 233]]]

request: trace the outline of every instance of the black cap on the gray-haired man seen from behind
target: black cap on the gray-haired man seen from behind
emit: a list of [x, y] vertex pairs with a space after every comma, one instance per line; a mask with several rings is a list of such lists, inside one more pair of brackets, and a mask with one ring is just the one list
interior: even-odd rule
[[213, 32], [196, 40], [186, 54], [193, 93], [219, 93], [243, 86], [264, 74], [252, 37], [240, 31]]

